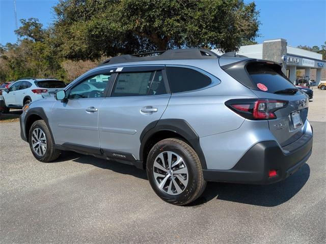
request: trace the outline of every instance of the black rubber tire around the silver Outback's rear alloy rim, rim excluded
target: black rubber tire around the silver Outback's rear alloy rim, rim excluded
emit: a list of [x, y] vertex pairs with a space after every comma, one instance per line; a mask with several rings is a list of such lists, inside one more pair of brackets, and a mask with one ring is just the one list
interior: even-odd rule
[[[188, 183], [181, 194], [170, 195], [160, 190], [154, 178], [154, 161], [164, 151], [172, 151], [178, 154], [188, 170]], [[175, 205], [186, 205], [195, 201], [202, 195], [206, 187], [206, 181], [196, 151], [184, 141], [176, 138], [161, 140], [152, 147], [147, 157], [147, 176], [154, 192], [162, 200]]]

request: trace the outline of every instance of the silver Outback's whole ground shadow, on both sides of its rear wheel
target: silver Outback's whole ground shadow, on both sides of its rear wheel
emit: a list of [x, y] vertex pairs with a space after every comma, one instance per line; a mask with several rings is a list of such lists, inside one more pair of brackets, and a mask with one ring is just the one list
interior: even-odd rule
[[[146, 171], [132, 165], [115, 161], [84, 156], [71, 151], [64, 151], [56, 162], [72, 160], [77, 163], [91, 164], [102, 169], [109, 169], [121, 174], [128, 174], [141, 179], [147, 179]], [[283, 181], [271, 185], [244, 185], [208, 182], [203, 195], [188, 206], [205, 205], [216, 199], [257, 206], [273, 207], [291, 199], [306, 184], [310, 176], [310, 167], [304, 164], [300, 170]]]

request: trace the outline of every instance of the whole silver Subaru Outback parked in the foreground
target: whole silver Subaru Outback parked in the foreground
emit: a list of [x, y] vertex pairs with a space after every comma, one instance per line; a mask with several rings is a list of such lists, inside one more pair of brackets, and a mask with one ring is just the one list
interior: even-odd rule
[[113, 57], [26, 105], [21, 137], [41, 162], [72, 150], [145, 169], [177, 205], [207, 181], [270, 184], [312, 150], [308, 97], [281, 68], [206, 49]]

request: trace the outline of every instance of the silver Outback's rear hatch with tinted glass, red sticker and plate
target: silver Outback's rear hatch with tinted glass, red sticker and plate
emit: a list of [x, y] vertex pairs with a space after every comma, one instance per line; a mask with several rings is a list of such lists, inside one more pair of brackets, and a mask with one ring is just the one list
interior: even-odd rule
[[273, 104], [273, 116], [267, 116], [267, 120], [269, 130], [281, 146], [302, 136], [309, 99], [283, 74], [279, 64], [248, 59], [247, 62], [229, 65], [224, 70], [249, 87], [261, 101]]

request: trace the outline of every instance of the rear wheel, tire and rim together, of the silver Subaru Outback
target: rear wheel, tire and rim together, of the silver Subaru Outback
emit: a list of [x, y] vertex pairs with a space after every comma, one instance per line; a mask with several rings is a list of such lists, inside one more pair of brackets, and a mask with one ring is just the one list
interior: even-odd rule
[[147, 176], [155, 193], [175, 205], [193, 202], [206, 187], [196, 151], [175, 138], [161, 140], [152, 147], [147, 157]]

